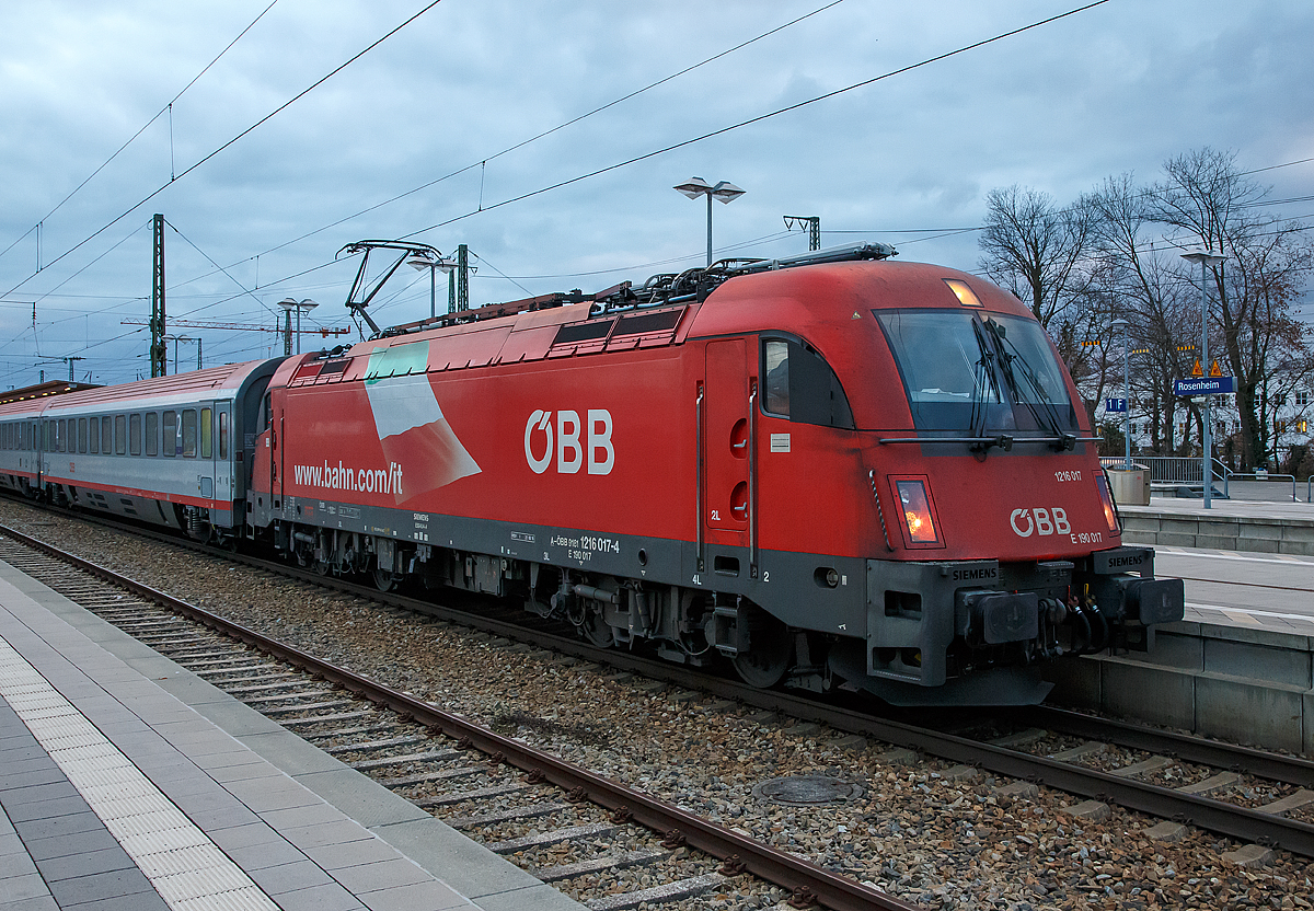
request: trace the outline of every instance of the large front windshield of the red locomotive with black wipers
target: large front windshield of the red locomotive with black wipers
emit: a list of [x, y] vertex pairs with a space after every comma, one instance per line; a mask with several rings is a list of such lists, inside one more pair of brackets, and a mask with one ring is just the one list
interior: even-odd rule
[[963, 310], [874, 315], [899, 364], [918, 430], [1077, 429], [1063, 368], [1039, 323]]

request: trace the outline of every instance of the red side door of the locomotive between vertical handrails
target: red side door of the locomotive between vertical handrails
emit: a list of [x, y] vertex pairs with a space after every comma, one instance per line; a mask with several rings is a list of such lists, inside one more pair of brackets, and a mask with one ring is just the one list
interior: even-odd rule
[[[756, 551], [756, 396], [757, 379], [749, 376], [748, 342], [710, 342], [700, 434], [702, 528], [710, 544], [748, 544]], [[756, 552], [752, 557], [756, 561]]]

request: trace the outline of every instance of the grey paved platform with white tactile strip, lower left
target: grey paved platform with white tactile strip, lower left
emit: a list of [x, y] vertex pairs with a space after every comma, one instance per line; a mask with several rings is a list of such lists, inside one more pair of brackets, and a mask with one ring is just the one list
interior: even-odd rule
[[0, 561], [0, 907], [583, 906]]

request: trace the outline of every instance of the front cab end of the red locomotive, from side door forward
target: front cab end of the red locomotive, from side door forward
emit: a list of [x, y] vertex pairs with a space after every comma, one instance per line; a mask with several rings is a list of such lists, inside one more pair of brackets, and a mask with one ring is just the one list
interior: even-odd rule
[[[745, 517], [752, 581], [736, 588], [753, 610], [737, 613], [759, 635], [736, 640], [728, 619], [710, 635], [737, 665], [758, 651], [786, 684], [844, 681], [900, 705], [1028, 703], [1050, 689], [1046, 661], [1144, 649], [1155, 624], [1181, 619], [1181, 581], [1122, 546], [1085, 409], [1014, 297], [916, 263], [727, 281], [691, 333], [710, 339], [700, 452], [714, 461], [740, 415], [723, 418], [717, 393], [745, 386], [715, 379], [712, 352], [749, 319], [742, 472], [704, 471], [704, 511]], [[744, 552], [711, 532], [699, 555], [714, 568]], [[795, 643], [787, 668], [758, 609]]]

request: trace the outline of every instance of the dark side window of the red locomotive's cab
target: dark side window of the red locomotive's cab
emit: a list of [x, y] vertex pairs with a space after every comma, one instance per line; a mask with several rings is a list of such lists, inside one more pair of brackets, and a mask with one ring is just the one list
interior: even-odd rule
[[805, 342], [763, 339], [762, 375], [766, 396], [762, 410], [795, 423], [853, 430], [853, 410], [840, 377], [821, 354]]

